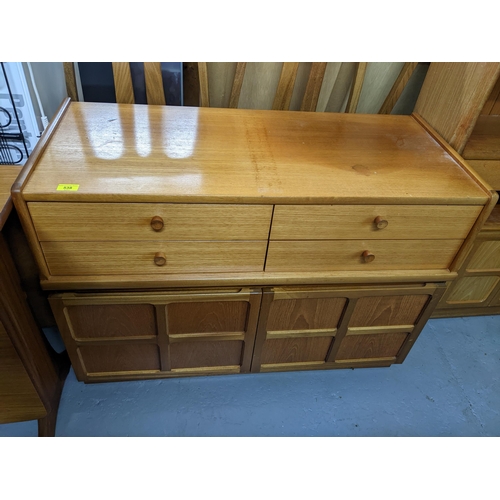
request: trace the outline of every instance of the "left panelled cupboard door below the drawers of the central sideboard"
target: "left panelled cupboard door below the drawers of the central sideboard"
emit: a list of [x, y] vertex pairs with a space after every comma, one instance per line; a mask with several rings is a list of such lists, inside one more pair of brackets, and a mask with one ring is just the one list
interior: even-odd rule
[[250, 371], [261, 291], [54, 295], [79, 380]]

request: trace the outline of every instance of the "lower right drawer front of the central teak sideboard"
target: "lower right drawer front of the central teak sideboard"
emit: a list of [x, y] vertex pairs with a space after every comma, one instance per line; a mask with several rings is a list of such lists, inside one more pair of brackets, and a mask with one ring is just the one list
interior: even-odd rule
[[[271, 241], [266, 271], [448, 269], [463, 240]], [[365, 262], [368, 251], [374, 259]]]

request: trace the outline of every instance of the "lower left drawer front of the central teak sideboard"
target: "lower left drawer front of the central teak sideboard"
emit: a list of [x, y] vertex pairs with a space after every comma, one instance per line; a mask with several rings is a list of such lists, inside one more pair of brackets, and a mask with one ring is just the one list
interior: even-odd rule
[[[41, 246], [53, 276], [154, 275], [263, 271], [267, 242], [46, 241]], [[163, 265], [155, 264], [158, 254]]]

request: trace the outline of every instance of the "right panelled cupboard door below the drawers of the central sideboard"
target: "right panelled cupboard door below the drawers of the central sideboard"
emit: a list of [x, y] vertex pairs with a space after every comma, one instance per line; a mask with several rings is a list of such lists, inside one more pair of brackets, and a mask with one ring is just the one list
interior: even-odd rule
[[404, 360], [445, 284], [265, 290], [253, 372]]

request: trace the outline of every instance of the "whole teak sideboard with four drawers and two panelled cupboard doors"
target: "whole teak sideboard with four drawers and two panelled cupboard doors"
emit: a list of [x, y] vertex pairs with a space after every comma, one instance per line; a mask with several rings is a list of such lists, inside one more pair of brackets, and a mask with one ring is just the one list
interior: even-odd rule
[[13, 197], [85, 382], [401, 363], [498, 199], [417, 115], [69, 100]]

